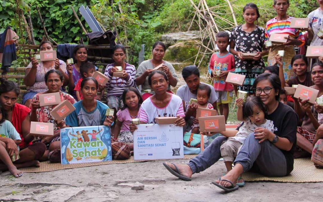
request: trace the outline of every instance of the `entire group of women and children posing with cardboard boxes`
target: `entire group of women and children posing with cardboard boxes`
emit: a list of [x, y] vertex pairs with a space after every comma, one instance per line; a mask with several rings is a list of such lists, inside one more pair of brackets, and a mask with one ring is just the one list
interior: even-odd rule
[[[319, 9], [323, 9], [323, 1], [318, 2]], [[307, 58], [295, 54], [294, 46], [303, 46], [304, 37], [301, 31], [289, 28], [292, 18], [286, 15], [289, 1], [275, 0], [273, 6], [278, 16], [268, 21], [265, 31], [255, 25], [260, 17], [257, 6], [247, 4], [243, 9], [245, 24], [234, 27], [231, 36], [225, 32], [217, 34], [219, 52], [212, 55], [209, 64], [213, 85], [200, 82], [196, 66], [187, 66], [182, 69], [186, 84], [178, 88], [176, 95], [171, 86], [177, 85], [178, 78], [172, 64], [163, 60], [166, 47], [162, 42], [153, 45], [152, 58], [143, 61], [137, 69], [125, 62], [125, 48], [116, 45], [114, 63], [104, 71], [109, 78], [106, 86], [92, 78], [97, 67], [87, 61], [84, 45], [74, 49], [75, 64], [67, 65], [59, 59], [31, 58], [24, 78], [28, 90], [22, 104], [17, 103], [20, 94], [17, 84], [1, 79], [0, 170], [9, 170], [19, 177], [22, 175], [19, 168], [39, 166], [39, 161], [60, 162], [60, 129], [69, 126], [108, 126], [113, 140], [127, 144], [130, 149], [133, 149], [133, 132], [137, 129], [131, 123], [134, 118], [146, 124], [155, 123], [156, 117], [177, 117], [174, 124], [183, 126], [183, 132], [214, 135], [200, 131], [199, 122], [194, 118], [197, 108], [214, 109], [226, 120], [233, 94], [239, 89], [249, 92], [247, 101], [235, 101], [240, 126], [233, 131], [220, 132], [222, 135], [187, 165], [165, 162], [164, 166], [173, 175], [191, 180], [194, 173], [210, 167], [222, 156], [227, 173], [213, 184], [227, 191], [243, 186], [241, 174], [249, 170], [267, 176], [288, 175], [293, 170], [294, 157], [310, 156], [314, 145], [322, 149], [323, 106], [287, 96], [283, 87], [302, 84], [319, 90], [318, 97], [323, 96], [323, 64], [313, 64], [308, 72]], [[312, 20], [311, 26], [314, 25]], [[311, 32], [312, 38], [317, 39], [317, 30], [312, 30], [308, 29], [309, 36]], [[268, 49], [265, 41], [272, 33], [288, 33], [290, 37], [287, 43]], [[53, 46], [43, 41], [39, 49], [53, 50]], [[277, 54], [281, 49], [285, 50], [284, 57]], [[245, 52], [257, 55], [244, 59], [242, 53]], [[262, 57], [268, 53], [271, 66], [265, 68]], [[323, 57], [319, 60], [323, 62]], [[123, 75], [114, 77], [118, 66], [122, 67]], [[156, 67], [160, 68], [156, 70]], [[230, 71], [246, 76], [242, 86], [225, 82]], [[141, 92], [137, 86], [141, 86]], [[103, 103], [100, 100], [105, 91], [106, 103]], [[39, 102], [40, 94], [54, 92], [59, 92], [61, 101], [68, 100], [76, 108], [61, 121], [50, 113], [56, 105], [40, 106]], [[197, 99], [197, 103], [190, 103], [192, 98]], [[108, 108], [114, 109], [113, 116], [106, 116]], [[29, 133], [31, 121], [53, 123], [53, 137], [39, 138]], [[318, 157], [316, 166], [323, 166], [322, 162]]]

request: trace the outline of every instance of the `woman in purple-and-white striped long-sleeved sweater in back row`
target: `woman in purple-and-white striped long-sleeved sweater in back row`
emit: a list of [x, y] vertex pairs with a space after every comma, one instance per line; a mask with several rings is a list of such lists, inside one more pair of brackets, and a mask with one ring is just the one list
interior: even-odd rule
[[[109, 108], [114, 109], [116, 113], [120, 108], [123, 107], [123, 91], [128, 87], [136, 87], [136, 82], [134, 81], [136, 69], [135, 66], [124, 61], [126, 59], [126, 49], [122, 45], [117, 44], [112, 51], [114, 63], [107, 66], [104, 75], [109, 78], [106, 85], [107, 105]], [[113, 76], [113, 73], [118, 71], [118, 66], [122, 67], [122, 77]], [[114, 117], [116, 117], [116, 114], [114, 114]]]

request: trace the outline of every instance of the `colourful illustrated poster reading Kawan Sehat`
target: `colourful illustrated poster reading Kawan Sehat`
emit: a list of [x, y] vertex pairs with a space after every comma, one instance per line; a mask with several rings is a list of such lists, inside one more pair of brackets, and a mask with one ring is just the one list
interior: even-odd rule
[[107, 126], [68, 127], [60, 130], [62, 164], [112, 161]]

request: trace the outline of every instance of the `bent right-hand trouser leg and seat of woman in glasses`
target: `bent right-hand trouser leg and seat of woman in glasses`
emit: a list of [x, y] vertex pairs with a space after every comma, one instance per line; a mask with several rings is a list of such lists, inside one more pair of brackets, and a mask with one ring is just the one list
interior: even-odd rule
[[282, 151], [268, 140], [259, 144], [254, 133], [249, 134], [242, 145], [234, 165], [237, 163], [242, 165], [244, 172], [250, 170], [255, 163], [256, 171], [262, 175], [287, 175], [286, 158]]

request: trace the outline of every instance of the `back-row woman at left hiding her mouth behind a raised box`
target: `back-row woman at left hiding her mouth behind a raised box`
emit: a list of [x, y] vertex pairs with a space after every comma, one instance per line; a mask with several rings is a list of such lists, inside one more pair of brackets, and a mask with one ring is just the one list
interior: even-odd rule
[[[53, 45], [49, 41], [43, 41], [39, 45], [40, 51], [53, 51]], [[52, 54], [52, 53], [51, 53]], [[39, 56], [40, 57], [40, 56]], [[53, 57], [53, 56], [52, 56]], [[40, 57], [41, 59], [42, 57]], [[55, 58], [54, 60], [40, 61], [40, 59], [31, 58], [31, 62], [28, 64], [24, 84], [27, 86], [27, 93], [23, 97], [22, 104], [29, 107], [31, 99], [37, 93], [47, 90], [45, 84], [45, 74], [51, 69], [57, 69], [62, 72], [65, 80], [65, 84], [68, 84], [68, 75], [66, 72], [66, 64], [64, 61]]]

